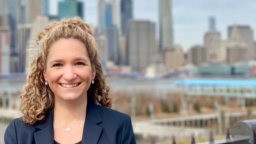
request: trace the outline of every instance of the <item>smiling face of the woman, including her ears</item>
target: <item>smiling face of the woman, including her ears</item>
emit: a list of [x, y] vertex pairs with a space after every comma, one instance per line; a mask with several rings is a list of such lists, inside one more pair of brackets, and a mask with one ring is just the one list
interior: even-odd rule
[[87, 49], [78, 39], [62, 38], [50, 46], [44, 78], [56, 100], [87, 96], [94, 77]]

